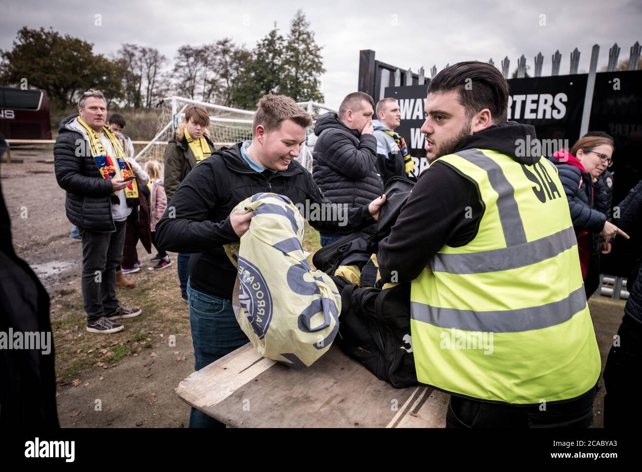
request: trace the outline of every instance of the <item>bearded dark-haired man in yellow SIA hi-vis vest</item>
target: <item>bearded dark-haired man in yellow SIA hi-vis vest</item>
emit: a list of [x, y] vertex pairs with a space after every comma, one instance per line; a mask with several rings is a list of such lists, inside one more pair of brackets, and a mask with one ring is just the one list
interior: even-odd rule
[[507, 121], [507, 105], [489, 64], [431, 80], [431, 166], [379, 244], [379, 270], [412, 281], [417, 378], [452, 394], [447, 426], [589, 426], [600, 353], [568, 203], [535, 128]]

